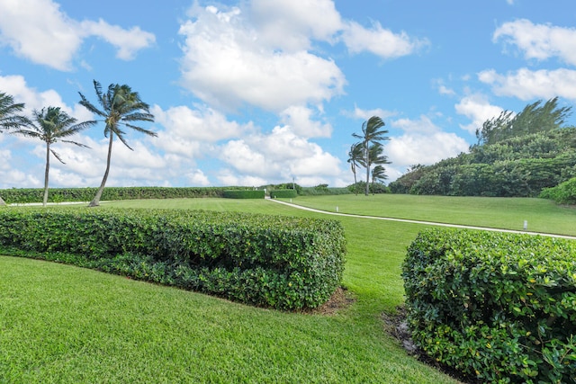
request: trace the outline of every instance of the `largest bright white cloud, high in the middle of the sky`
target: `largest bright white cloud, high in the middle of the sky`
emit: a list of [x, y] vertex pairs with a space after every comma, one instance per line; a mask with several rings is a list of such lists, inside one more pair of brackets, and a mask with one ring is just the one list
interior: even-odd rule
[[182, 82], [204, 102], [229, 110], [249, 104], [281, 112], [343, 93], [344, 74], [333, 60], [306, 50], [266, 49], [238, 8], [194, 7], [193, 18], [180, 27]]

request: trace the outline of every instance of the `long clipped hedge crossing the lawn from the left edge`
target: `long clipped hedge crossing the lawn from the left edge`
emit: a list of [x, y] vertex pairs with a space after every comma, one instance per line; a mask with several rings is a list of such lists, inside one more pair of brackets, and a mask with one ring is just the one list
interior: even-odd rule
[[257, 306], [315, 308], [338, 288], [338, 221], [202, 210], [0, 210], [0, 247]]

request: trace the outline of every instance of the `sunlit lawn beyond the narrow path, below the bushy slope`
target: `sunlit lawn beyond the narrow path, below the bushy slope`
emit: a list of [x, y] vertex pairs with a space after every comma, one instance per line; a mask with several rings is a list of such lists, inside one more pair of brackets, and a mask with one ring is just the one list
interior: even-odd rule
[[299, 196], [293, 203], [331, 212], [338, 207], [341, 213], [514, 230], [523, 230], [527, 220], [529, 231], [576, 236], [576, 208], [545, 199], [380, 194]]

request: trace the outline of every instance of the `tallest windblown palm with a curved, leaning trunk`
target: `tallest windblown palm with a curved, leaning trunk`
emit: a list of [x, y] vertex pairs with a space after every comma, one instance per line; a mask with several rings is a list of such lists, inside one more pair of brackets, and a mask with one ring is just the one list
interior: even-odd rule
[[80, 105], [85, 106], [88, 111], [103, 118], [105, 123], [104, 137], [108, 138], [108, 156], [106, 159], [106, 171], [104, 172], [102, 183], [100, 184], [100, 188], [98, 188], [93, 201], [88, 205], [89, 207], [100, 205], [100, 198], [102, 197], [102, 192], [106, 185], [106, 180], [108, 180], [108, 174], [110, 173], [110, 160], [112, 158], [112, 143], [114, 141], [114, 135], [118, 137], [122, 144], [130, 150], [133, 150], [126, 142], [126, 139], [124, 138], [125, 132], [121, 127], [125, 126], [148, 136], [157, 136], [156, 132], [131, 124], [132, 121], [154, 121], [154, 115], [149, 112], [149, 105], [142, 102], [139, 94], [137, 92], [132, 92], [130, 86], [111, 84], [108, 86], [108, 91], [104, 94], [102, 91], [102, 85], [94, 80], [94, 90], [96, 92], [96, 97], [98, 98], [98, 103], [102, 106], [102, 110], [95, 107], [93, 103], [88, 102], [84, 97], [84, 94], [80, 94]]

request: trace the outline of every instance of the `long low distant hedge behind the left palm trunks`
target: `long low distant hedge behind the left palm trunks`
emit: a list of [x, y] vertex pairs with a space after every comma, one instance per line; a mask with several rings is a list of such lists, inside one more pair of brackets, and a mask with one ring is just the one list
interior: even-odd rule
[[[97, 188], [50, 188], [49, 202], [92, 201]], [[102, 200], [178, 199], [224, 197], [225, 191], [246, 190], [246, 187], [106, 187]], [[40, 188], [14, 188], [0, 190], [8, 204], [41, 202], [44, 190]]]

